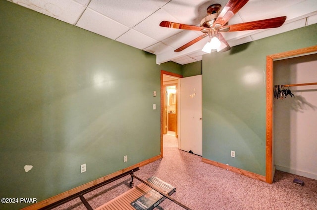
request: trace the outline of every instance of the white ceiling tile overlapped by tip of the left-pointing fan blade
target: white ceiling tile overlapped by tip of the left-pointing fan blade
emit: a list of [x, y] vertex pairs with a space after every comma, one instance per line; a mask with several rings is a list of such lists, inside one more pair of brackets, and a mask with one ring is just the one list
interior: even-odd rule
[[168, 14], [165, 10], [159, 9], [150, 17], [136, 25], [133, 29], [149, 37], [152, 37], [155, 40], [164, 40], [172, 35], [183, 31], [181, 29], [160, 27], [159, 23], [163, 20], [179, 22], [176, 18]]

